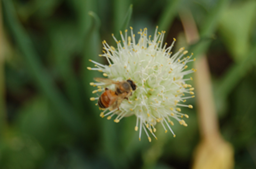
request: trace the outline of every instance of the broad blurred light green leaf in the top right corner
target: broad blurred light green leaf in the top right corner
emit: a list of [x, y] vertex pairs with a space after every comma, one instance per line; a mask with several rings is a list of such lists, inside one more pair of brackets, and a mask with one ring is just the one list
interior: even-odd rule
[[220, 19], [220, 33], [236, 62], [245, 59], [251, 48], [250, 38], [256, 19], [256, 1], [242, 1], [231, 6]]

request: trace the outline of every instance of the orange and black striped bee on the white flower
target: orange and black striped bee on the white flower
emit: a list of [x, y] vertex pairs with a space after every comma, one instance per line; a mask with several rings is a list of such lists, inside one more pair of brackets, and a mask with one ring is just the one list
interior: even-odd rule
[[128, 97], [132, 96], [132, 91], [136, 90], [136, 85], [132, 80], [115, 81], [107, 78], [94, 78], [97, 82], [103, 82], [105, 85], [116, 85], [115, 91], [105, 88], [105, 91], [100, 95], [98, 99], [98, 105], [100, 108], [108, 108], [109, 110], [119, 109], [120, 104], [124, 99], [128, 100]]

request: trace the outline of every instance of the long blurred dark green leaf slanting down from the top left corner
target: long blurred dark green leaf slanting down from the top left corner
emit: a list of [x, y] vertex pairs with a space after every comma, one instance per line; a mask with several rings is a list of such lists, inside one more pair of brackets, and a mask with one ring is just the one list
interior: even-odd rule
[[53, 104], [59, 117], [73, 129], [74, 132], [80, 132], [82, 121], [74, 114], [74, 110], [68, 105], [60, 90], [54, 84], [53, 79], [45, 71], [43, 64], [39, 60], [33, 42], [28, 36], [23, 26], [20, 24], [16, 16], [15, 8], [10, 0], [3, 0], [3, 9], [6, 16], [6, 22], [9, 25], [10, 31], [13, 34], [13, 39], [17, 43], [18, 48], [23, 54], [23, 59], [27, 63], [31, 77], [33, 77], [38, 89], [49, 99]]

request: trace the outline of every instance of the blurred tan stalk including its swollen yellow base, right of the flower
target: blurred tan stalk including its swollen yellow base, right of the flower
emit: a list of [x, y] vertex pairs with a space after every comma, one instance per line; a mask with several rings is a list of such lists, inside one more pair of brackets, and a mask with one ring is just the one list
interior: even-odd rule
[[[199, 34], [192, 14], [186, 10], [180, 13], [188, 43], [199, 40]], [[195, 150], [193, 169], [230, 169], [234, 166], [232, 146], [222, 139], [213, 101], [210, 70], [206, 55], [197, 56], [195, 62], [196, 99], [198, 106], [201, 141]]]

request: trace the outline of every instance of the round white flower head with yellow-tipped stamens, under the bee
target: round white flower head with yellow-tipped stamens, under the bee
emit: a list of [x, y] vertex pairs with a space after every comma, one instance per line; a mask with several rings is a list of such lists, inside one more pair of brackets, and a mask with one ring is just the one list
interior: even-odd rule
[[[137, 88], [128, 100], [124, 99], [114, 110], [106, 108], [100, 116], [107, 116], [108, 120], [115, 116], [114, 121], [119, 122], [123, 117], [136, 115], [135, 131], [139, 130], [139, 140], [144, 130], [149, 142], [151, 142], [150, 135], [157, 139], [155, 135], [157, 123], [161, 123], [165, 132], [169, 129], [174, 137], [176, 135], [171, 128], [174, 125], [173, 119], [187, 126], [182, 118], [188, 118], [188, 115], [181, 113], [181, 107], [193, 108], [192, 105], [186, 105], [184, 102], [194, 97], [194, 88], [187, 84], [187, 81], [193, 80], [192, 77], [187, 79], [183, 77], [196, 71], [188, 70], [186, 65], [195, 60], [191, 59], [193, 54], [186, 55], [188, 51], [180, 48], [172, 55], [171, 49], [176, 40], [173, 38], [172, 44], [167, 46], [167, 43], [163, 42], [165, 31], [158, 32], [157, 28], [153, 38], [151, 35], [148, 36], [147, 28], [140, 30], [138, 42], [135, 40], [132, 27], [130, 27], [131, 36], [128, 36], [128, 30], [125, 30], [125, 34], [120, 31], [122, 40], [117, 40], [112, 34], [117, 47], [109, 46], [103, 40], [104, 51], [99, 55], [107, 59], [108, 65], [89, 60], [95, 64], [95, 68], [87, 67], [88, 70], [103, 72], [103, 76], [111, 80], [131, 79], [135, 82]], [[92, 92], [96, 93], [103, 92], [102, 86], [106, 84], [92, 82], [90, 85], [98, 87]], [[108, 88], [114, 91], [115, 85], [108, 85]], [[99, 97], [91, 98], [92, 101], [97, 99]]]

